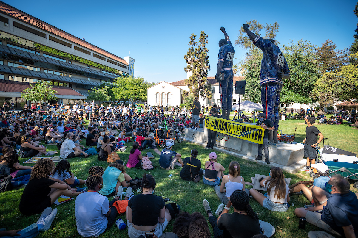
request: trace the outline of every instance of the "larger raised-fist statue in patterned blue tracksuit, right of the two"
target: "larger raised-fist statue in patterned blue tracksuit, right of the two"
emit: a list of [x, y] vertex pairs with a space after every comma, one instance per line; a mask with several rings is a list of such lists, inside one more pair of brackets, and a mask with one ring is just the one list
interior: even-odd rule
[[280, 48], [272, 39], [263, 39], [248, 29], [248, 24], [243, 24], [243, 30], [252, 40], [252, 43], [263, 51], [260, 70], [261, 103], [263, 113], [270, 120], [275, 130], [269, 133], [269, 146], [276, 147], [277, 130], [279, 128], [280, 92], [282, 90], [282, 79], [290, 78], [290, 70], [286, 59]]

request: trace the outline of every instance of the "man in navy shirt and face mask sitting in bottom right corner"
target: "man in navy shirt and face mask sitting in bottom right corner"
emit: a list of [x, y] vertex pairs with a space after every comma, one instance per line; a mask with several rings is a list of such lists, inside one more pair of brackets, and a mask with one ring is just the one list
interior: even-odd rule
[[[305, 217], [307, 222], [337, 236], [358, 237], [358, 199], [349, 191], [348, 180], [340, 175], [332, 176], [326, 183], [326, 188], [330, 192], [325, 192], [326, 202], [315, 202], [315, 205], [318, 205], [316, 207], [296, 208], [296, 216]], [[321, 188], [317, 189], [324, 192]], [[323, 212], [316, 212], [320, 210]], [[333, 237], [323, 231], [318, 233], [325, 234], [325, 237]]]

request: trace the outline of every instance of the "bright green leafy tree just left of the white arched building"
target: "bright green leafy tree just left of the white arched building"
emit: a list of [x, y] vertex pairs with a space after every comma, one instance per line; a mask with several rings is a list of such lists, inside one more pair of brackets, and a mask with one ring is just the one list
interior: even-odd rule
[[120, 77], [113, 83], [113, 94], [116, 100], [131, 102], [145, 102], [148, 100], [147, 88], [151, 84], [144, 81], [140, 76]]

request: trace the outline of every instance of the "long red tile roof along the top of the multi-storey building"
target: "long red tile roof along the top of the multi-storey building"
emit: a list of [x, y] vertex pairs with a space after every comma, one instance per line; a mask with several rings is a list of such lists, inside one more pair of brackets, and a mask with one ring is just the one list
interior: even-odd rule
[[16, 19], [19, 19], [23, 22], [26, 22], [30, 25], [33, 25], [35, 27], [38, 27], [42, 30], [45, 30], [45, 31], [48, 31], [54, 35], [57, 35], [59, 37], [62, 37], [66, 40], [69, 40], [69, 41], [72, 41], [73, 43], [76, 43], [78, 45], [81, 45], [83, 47], [86, 47], [87, 49], [89, 50], [93, 50], [99, 54], [102, 54], [104, 56], [107, 56], [113, 60], [117, 60], [119, 62], [121, 62], [121, 64], [124, 64], [124, 65], [127, 65], [128, 66], [128, 63], [122, 59], [121, 57], [118, 57], [116, 55], [113, 55], [111, 54], [110, 52], [108, 51], [105, 51], [95, 45], [92, 45], [90, 43], [88, 43], [87, 41], [84, 41], [84, 40], [81, 40], [79, 39], [78, 37], [74, 36], [74, 35], [71, 35], [69, 33], [67, 33], [66, 31], [63, 31], [61, 29], [58, 29], [57, 27], [54, 27], [40, 19], [37, 19], [36, 17], [33, 17], [23, 11], [20, 11], [10, 5], [7, 5], [3, 2], [0, 2], [0, 11], [5, 13], [6, 15], [9, 15], [9, 16], [12, 16], [12, 17], [15, 17]]

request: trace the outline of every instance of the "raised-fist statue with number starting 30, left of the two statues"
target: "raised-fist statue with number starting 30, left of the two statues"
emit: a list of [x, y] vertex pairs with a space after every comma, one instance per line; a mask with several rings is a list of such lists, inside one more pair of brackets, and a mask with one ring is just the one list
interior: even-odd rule
[[225, 39], [219, 41], [218, 68], [216, 72], [216, 81], [219, 82], [219, 93], [221, 102], [221, 112], [224, 119], [230, 119], [232, 109], [232, 80], [234, 73], [232, 65], [235, 55], [234, 47], [231, 44], [229, 36], [226, 34], [225, 28], [222, 26], [220, 30], [224, 33]]

